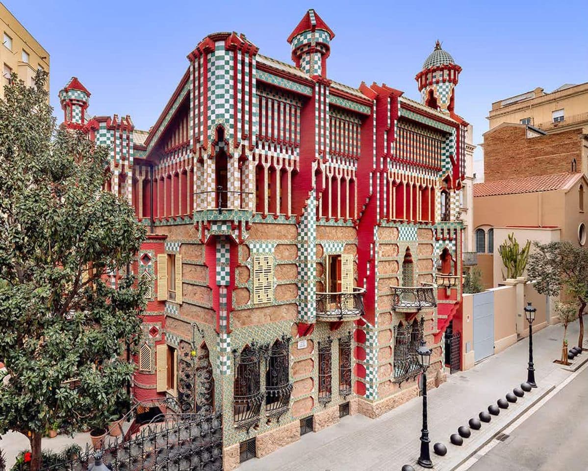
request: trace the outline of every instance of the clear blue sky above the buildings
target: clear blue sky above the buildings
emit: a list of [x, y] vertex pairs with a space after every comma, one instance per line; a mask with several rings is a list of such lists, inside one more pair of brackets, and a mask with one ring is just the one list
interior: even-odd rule
[[139, 129], [155, 123], [203, 36], [243, 32], [260, 54], [290, 63], [286, 38], [308, 8], [336, 35], [329, 78], [351, 86], [384, 82], [419, 99], [414, 77], [440, 39], [463, 68], [456, 111], [475, 143], [493, 101], [588, 81], [582, 1], [2, 1], [49, 51], [56, 112], [75, 75], [92, 93], [90, 113], [129, 114]]

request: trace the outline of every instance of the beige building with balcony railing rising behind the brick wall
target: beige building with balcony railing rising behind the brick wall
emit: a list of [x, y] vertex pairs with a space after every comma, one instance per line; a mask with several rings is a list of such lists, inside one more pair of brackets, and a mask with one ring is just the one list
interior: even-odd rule
[[567, 131], [588, 125], [588, 82], [565, 83], [546, 93], [543, 88], [492, 103], [490, 129], [502, 123], [517, 123], [547, 133]]

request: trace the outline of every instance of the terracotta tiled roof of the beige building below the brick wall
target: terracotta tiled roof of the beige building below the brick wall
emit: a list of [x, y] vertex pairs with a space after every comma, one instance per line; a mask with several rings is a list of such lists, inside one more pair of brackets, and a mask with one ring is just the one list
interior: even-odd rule
[[581, 177], [582, 173], [554, 173], [553, 175], [526, 176], [524, 178], [475, 183], [474, 198], [477, 196], [516, 195], [518, 193], [560, 190]]

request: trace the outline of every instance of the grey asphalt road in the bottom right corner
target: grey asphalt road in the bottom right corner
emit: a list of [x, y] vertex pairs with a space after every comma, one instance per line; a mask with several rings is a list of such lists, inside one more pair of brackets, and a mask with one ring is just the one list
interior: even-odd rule
[[568, 470], [588, 471], [588, 369], [470, 467], [470, 471]]

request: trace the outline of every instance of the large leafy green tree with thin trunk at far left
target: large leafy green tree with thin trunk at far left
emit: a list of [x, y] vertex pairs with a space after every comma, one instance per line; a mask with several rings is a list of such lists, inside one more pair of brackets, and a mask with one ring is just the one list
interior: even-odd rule
[[47, 430], [104, 424], [125, 392], [145, 292], [125, 274], [145, 230], [102, 191], [108, 149], [56, 128], [45, 80], [13, 75], [0, 100], [0, 433], [29, 438], [31, 471]]

